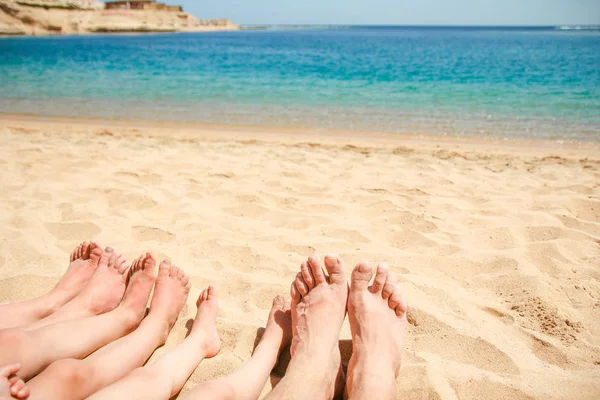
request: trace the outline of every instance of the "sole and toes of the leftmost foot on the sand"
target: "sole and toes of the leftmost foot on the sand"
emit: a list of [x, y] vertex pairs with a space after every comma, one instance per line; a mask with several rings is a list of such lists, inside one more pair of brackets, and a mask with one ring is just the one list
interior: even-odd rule
[[49, 293], [60, 307], [72, 300], [96, 272], [102, 248], [96, 242], [83, 242], [71, 252], [70, 264], [60, 281]]

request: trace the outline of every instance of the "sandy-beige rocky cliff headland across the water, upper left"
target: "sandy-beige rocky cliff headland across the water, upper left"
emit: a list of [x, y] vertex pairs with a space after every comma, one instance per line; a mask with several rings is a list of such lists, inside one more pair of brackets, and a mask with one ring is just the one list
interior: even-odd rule
[[229, 20], [204, 21], [182, 11], [105, 10], [96, 0], [0, 0], [0, 35], [235, 30]]

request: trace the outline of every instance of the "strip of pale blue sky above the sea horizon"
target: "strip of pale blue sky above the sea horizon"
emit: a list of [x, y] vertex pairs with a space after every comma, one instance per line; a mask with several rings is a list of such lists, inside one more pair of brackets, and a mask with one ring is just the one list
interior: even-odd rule
[[[165, 0], [162, 0], [165, 1]], [[241, 24], [600, 24], [600, 0], [166, 0]]]

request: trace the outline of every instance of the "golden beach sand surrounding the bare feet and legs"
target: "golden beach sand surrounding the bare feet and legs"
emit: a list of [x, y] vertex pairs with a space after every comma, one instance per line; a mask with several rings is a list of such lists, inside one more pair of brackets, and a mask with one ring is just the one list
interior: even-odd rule
[[171, 257], [194, 288], [153, 358], [220, 293], [223, 349], [186, 388], [247, 360], [299, 264], [337, 252], [388, 262], [409, 299], [400, 398], [600, 398], [597, 145], [6, 115], [0, 134], [0, 302], [50, 289], [84, 239]]

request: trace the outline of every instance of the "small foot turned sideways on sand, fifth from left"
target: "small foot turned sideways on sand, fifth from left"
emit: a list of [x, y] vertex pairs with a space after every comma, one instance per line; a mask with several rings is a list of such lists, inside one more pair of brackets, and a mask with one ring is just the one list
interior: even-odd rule
[[221, 339], [217, 332], [217, 290], [213, 286], [204, 289], [196, 301], [196, 307], [198, 312], [190, 336], [201, 335], [205, 358], [212, 358], [221, 350]]

